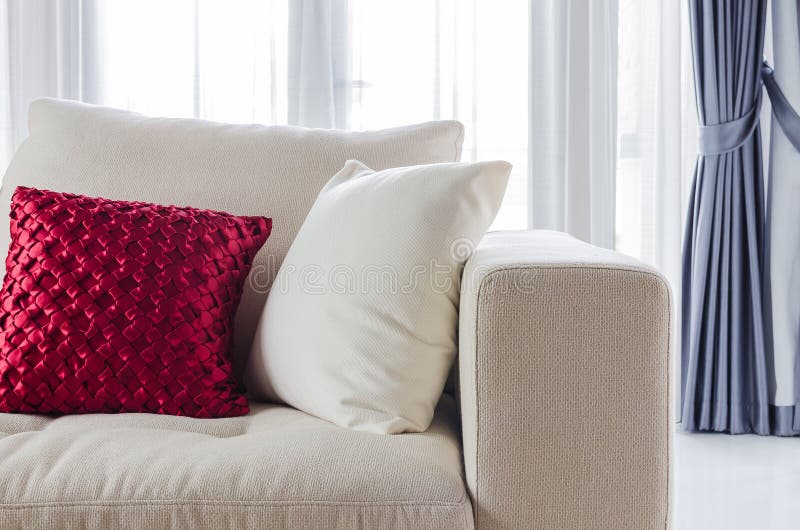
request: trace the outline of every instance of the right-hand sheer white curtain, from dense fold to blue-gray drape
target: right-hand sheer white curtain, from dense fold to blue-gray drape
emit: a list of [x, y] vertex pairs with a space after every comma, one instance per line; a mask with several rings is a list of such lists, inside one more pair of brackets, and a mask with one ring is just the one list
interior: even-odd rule
[[684, 4], [530, 11], [532, 226], [652, 263], [675, 293], [697, 129]]

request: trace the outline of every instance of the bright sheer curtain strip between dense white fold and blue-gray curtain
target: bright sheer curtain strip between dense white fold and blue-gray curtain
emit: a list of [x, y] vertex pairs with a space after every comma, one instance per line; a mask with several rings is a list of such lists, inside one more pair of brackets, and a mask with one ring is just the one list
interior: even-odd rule
[[697, 158], [686, 7], [619, 0], [616, 248], [661, 269], [675, 297]]

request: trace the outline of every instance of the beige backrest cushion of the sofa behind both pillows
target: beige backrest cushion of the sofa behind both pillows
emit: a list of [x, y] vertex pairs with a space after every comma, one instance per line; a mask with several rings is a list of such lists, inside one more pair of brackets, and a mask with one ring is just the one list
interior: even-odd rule
[[3, 258], [11, 195], [20, 185], [272, 218], [236, 316], [237, 368], [278, 267], [331, 176], [349, 159], [374, 169], [458, 161], [463, 140], [455, 121], [345, 132], [150, 118], [53, 99], [33, 102], [28, 119], [30, 135], [0, 189]]

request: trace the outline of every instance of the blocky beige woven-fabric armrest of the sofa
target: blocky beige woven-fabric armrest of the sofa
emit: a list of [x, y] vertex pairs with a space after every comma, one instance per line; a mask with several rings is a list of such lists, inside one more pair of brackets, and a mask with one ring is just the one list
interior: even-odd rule
[[497, 232], [461, 291], [458, 396], [478, 530], [665, 528], [667, 282], [566, 234]]

